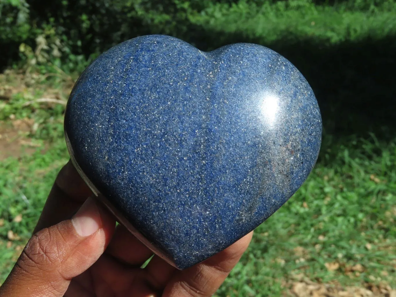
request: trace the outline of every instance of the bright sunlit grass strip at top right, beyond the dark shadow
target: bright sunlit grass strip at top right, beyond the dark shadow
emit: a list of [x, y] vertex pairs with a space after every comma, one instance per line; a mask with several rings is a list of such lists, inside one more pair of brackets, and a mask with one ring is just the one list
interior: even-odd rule
[[208, 32], [240, 34], [260, 44], [272, 44], [281, 38], [314, 38], [317, 44], [326, 46], [396, 34], [394, 1], [384, 1], [380, 6], [365, 2], [365, 9], [358, 8], [358, 1], [337, 6], [316, 5], [309, 0], [262, 2], [219, 3], [190, 16], [190, 21]]

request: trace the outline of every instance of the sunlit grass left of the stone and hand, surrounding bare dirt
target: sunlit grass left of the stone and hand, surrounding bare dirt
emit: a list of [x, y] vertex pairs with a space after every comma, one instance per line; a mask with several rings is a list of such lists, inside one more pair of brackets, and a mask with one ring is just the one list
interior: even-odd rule
[[[31, 236], [57, 171], [69, 159], [63, 140], [64, 106], [24, 105], [48, 93], [65, 99], [69, 81], [52, 79], [50, 84], [40, 84], [43, 78], [37, 75], [33, 79], [13, 71], [0, 75], [0, 95], [6, 98], [0, 101], [0, 134], [12, 129], [12, 122], [29, 119], [34, 128], [19, 131], [11, 141], [26, 139], [40, 145], [33, 154], [0, 160], [0, 282]], [[11, 95], [7, 93], [10, 91]], [[22, 215], [20, 222], [14, 220], [18, 215]], [[16, 240], [9, 240], [10, 230]]]

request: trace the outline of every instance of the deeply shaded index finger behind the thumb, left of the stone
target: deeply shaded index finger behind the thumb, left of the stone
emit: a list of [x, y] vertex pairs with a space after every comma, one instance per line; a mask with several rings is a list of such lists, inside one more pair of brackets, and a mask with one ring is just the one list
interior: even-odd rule
[[59, 171], [33, 233], [70, 219], [92, 195], [71, 161]]

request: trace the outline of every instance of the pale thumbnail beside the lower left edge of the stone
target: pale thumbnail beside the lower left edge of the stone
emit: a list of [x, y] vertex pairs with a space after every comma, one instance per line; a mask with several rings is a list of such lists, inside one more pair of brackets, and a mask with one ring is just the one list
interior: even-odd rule
[[78, 235], [87, 237], [95, 233], [101, 224], [99, 209], [95, 200], [89, 197], [72, 217], [72, 224]]

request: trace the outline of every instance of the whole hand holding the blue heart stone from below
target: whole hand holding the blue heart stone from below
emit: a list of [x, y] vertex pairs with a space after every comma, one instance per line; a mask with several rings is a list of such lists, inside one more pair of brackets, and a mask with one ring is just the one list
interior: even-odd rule
[[[61, 169], [0, 297], [211, 296], [238, 263], [252, 233], [179, 271], [152, 252], [92, 198], [69, 162]], [[71, 218], [71, 219], [70, 219]]]

